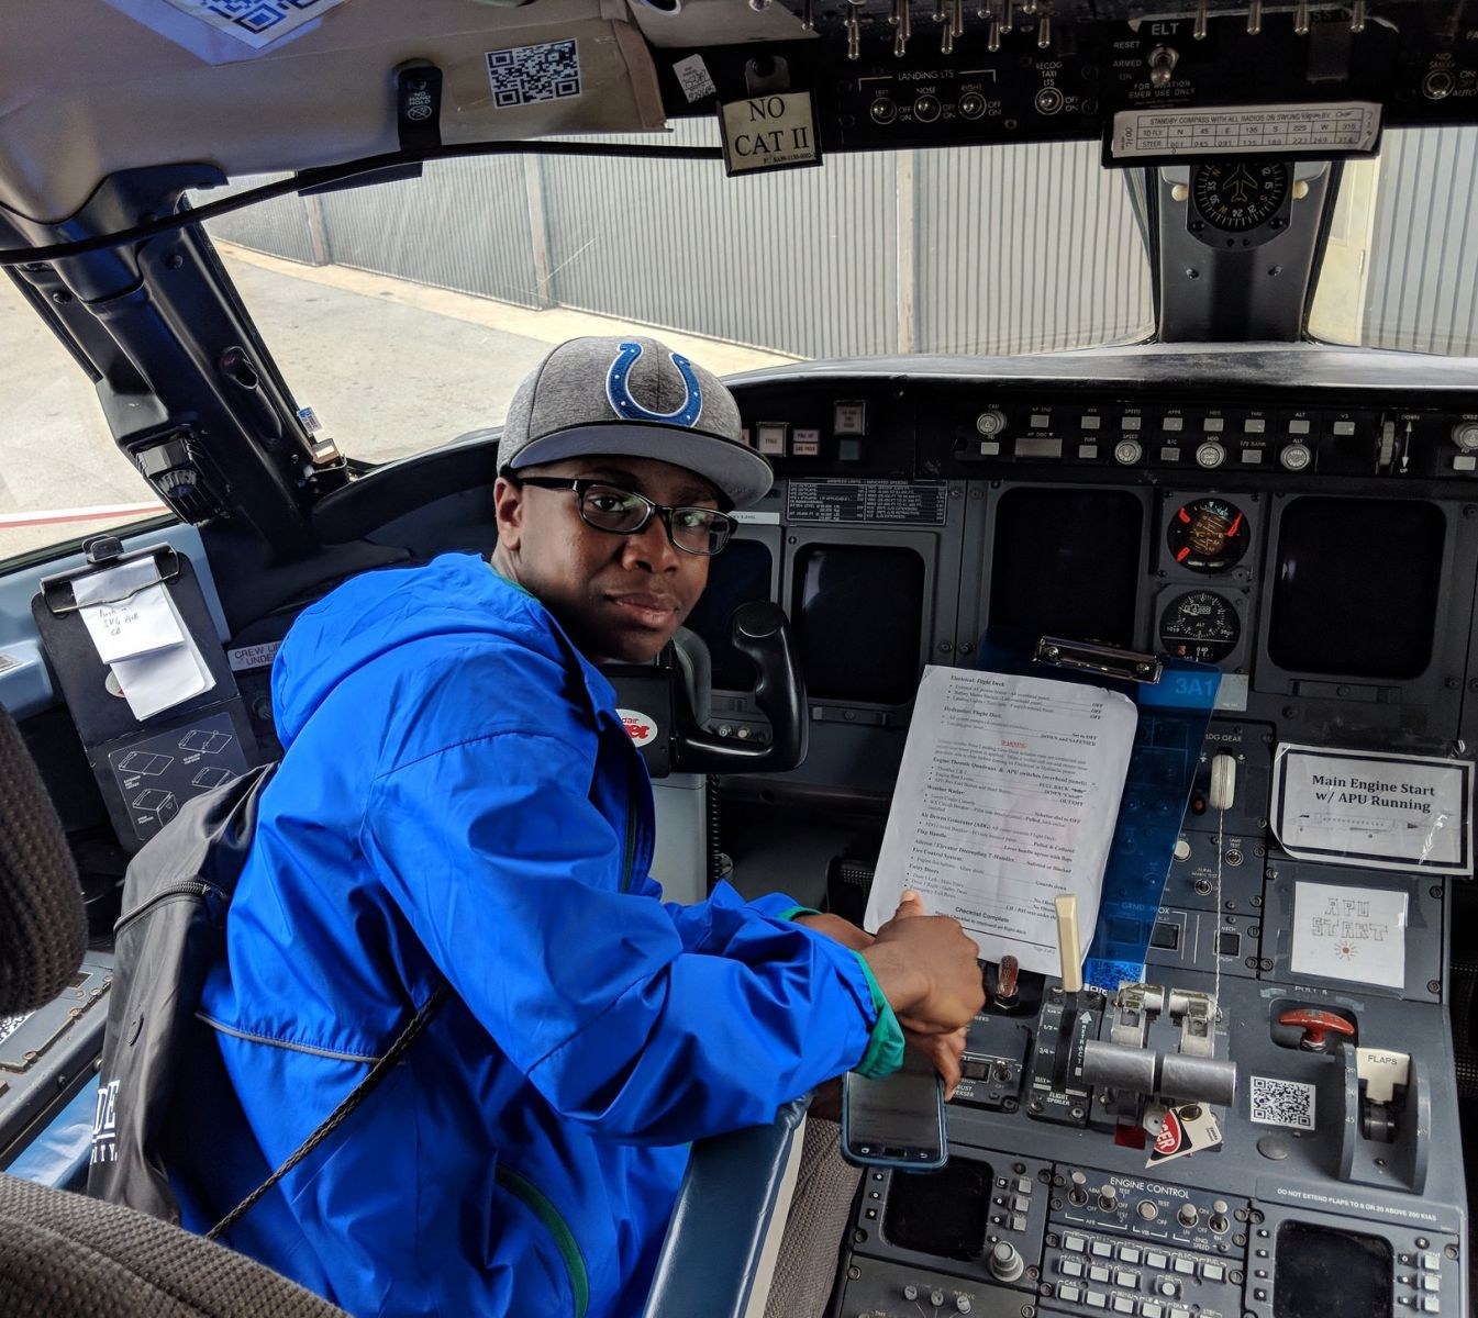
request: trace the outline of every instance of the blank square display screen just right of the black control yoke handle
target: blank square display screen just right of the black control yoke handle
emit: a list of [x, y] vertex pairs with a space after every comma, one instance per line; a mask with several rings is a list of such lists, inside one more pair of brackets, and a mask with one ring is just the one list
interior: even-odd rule
[[810, 699], [913, 699], [924, 629], [924, 559], [915, 550], [803, 545], [791, 615]]

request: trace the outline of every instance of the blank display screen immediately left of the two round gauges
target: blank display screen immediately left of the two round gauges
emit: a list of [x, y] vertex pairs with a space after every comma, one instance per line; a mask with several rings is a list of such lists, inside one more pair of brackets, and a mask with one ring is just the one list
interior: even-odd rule
[[1123, 491], [1012, 489], [996, 505], [990, 626], [1134, 644], [1144, 510]]

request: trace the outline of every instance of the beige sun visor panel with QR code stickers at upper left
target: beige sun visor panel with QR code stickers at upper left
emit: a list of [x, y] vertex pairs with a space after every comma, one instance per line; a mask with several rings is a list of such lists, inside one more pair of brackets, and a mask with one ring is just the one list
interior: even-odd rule
[[[321, 16], [260, 49], [171, 0], [24, 9], [25, 22], [0, 16], [0, 205], [40, 222], [74, 214], [120, 170], [207, 163], [241, 177], [395, 151], [395, 71], [412, 61], [442, 69], [446, 143], [665, 123], [619, 0], [321, 0]], [[200, 52], [180, 41], [189, 25]]]

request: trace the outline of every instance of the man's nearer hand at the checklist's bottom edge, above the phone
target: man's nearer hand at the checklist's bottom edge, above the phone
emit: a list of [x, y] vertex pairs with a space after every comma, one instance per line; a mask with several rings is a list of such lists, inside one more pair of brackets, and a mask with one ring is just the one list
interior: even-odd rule
[[958, 921], [924, 915], [924, 901], [912, 890], [872, 946], [860, 952], [909, 1033], [953, 1034], [984, 1006], [980, 949]]

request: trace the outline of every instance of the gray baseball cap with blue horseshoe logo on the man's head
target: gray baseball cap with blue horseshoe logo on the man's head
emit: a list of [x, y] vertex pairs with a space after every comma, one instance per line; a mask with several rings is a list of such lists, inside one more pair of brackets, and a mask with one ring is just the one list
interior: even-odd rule
[[718, 377], [667, 344], [637, 334], [571, 338], [513, 396], [498, 468], [591, 454], [659, 458], [706, 477], [743, 508], [774, 473], [739, 428], [739, 405]]

